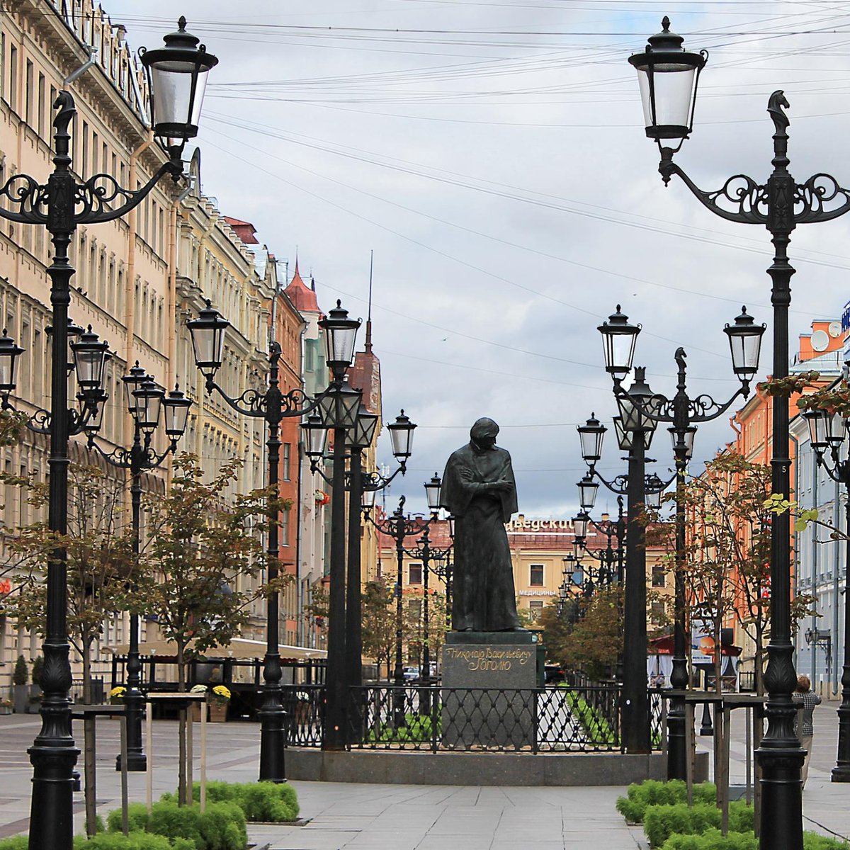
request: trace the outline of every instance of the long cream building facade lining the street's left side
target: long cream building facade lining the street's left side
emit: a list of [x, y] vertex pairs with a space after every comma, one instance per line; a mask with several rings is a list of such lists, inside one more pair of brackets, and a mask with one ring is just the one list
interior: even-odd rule
[[[46, 182], [53, 167], [51, 106], [62, 88], [71, 91], [77, 106], [71, 126], [77, 179], [105, 172], [128, 188], [146, 183], [166, 156], [147, 127], [144, 75], [123, 41], [124, 28], [114, 26], [91, 0], [8, 0], [3, 8], [0, 183], [15, 173]], [[160, 41], [158, 36], [150, 40], [150, 46]], [[89, 54], [94, 62], [65, 84]], [[49, 406], [49, 262], [43, 227], [0, 221], [0, 315], [9, 336], [26, 349], [12, 401], [28, 413]], [[138, 360], [162, 386], [170, 389], [178, 383], [195, 400], [179, 448], [195, 452], [211, 475], [225, 461], [240, 457], [245, 463], [234, 490], [262, 486], [263, 421], [240, 416], [222, 399], [203, 394], [185, 321], [209, 298], [232, 323], [218, 382], [231, 396], [262, 387], [268, 371], [270, 304], [278, 289], [276, 265], [265, 246], [243, 244], [215, 201], [202, 193], [195, 172], [191, 183], [187, 178], [177, 184], [162, 180], [125, 218], [79, 227], [71, 263], [77, 269], [71, 279], [71, 317], [78, 325], [91, 325], [114, 354], [105, 376], [110, 398], [100, 432], [103, 448], [110, 451], [132, 440], [121, 378]], [[164, 433], [156, 435], [155, 447], [165, 449]], [[99, 462], [80, 438], [72, 439], [71, 457]], [[40, 480], [47, 473], [47, 458], [46, 438], [31, 433], [20, 445], [0, 450], [4, 470]], [[144, 486], [163, 490], [169, 466], [145, 475]], [[124, 475], [105, 468], [111, 475]], [[7, 527], [39, 519], [20, 494], [7, 491], [6, 496]], [[263, 638], [262, 602], [252, 615], [243, 637]], [[155, 624], [143, 623], [142, 628], [143, 640], [156, 638]], [[126, 641], [126, 617], [105, 623], [95, 675], [108, 667], [105, 648]], [[10, 682], [15, 658], [20, 654], [31, 660], [40, 645], [36, 634], [17, 631], [0, 614], [0, 687]], [[76, 653], [71, 656], [77, 664]]]

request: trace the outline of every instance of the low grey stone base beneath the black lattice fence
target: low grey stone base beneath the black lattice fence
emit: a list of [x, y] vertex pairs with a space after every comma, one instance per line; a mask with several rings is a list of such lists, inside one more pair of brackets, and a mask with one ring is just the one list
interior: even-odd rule
[[[665, 779], [666, 757], [621, 753], [474, 753], [286, 750], [287, 779], [382, 785], [629, 785]], [[694, 781], [708, 777], [708, 753]]]

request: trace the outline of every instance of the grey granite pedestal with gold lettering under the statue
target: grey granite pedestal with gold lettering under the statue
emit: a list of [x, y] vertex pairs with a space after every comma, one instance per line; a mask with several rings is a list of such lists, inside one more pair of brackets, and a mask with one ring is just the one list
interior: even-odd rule
[[537, 730], [537, 636], [450, 632], [443, 647], [443, 745], [522, 750]]

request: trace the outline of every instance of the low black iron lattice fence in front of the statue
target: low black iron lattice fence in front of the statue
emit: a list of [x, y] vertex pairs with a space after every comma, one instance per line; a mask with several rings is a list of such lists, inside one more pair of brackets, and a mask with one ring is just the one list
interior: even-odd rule
[[[621, 689], [451, 689], [370, 685], [350, 689], [351, 750], [621, 752]], [[284, 688], [290, 746], [319, 747], [323, 686]], [[662, 700], [650, 694], [654, 750], [664, 740]]]

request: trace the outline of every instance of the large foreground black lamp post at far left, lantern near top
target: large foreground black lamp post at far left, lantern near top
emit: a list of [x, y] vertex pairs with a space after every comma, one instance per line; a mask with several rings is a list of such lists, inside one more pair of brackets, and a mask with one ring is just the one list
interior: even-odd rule
[[[18, 224], [45, 227], [54, 246], [48, 268], [50, 303], [53, 306], [53, 347], [51, 353], [51, 395], [48, 466], [48, 526], [59, 535], [67, 531], [68, 439], [80, 433], [81, 420], [68, 409], [67, 355], [68, 305], [71, 303], [71, 277], [75, 269], [68, 258], [71, 235], [79, 224], [99, 224], [122, 218], [137, 207], [166, 175], [175, 181], [183, 172], [180, 153], [186, 139], [197, 134], [203, 83], [207, 71], [218, 61], [198, 39], [185, 31], [185, 19], [178, 33], [166, 37], [169, 54], [176, 62], [163, 62], [152, 50], [142, 56], [150, 69], [151, 122], [159, 139], [165, 139], [169, 158], [139, 189], [124, 189], [110, 174], [95, 174], [77, 183], [71, 173], [71, 133], [77, 114], [70, 92], [59, 92], [54, 103], [54, 171], [47, 184], [39, 184], [27, 174], [15, 174], [0, 188], [6, 203], [0, 218]], [[191, 71], [187, 73], [187, 67]], [[188, 85], [180, 81], [189, 82]], [[163, 116], [164, 123], [157, 123]], [[173, 144], [169, 144], [173, 143]], [[128, 332], [132, 332], [129, 329]], [[82, 384], [81, 384], [82, 388]], [[82, 389], [88, 416], [96, 414], [98, 402], [91, 388]], [[44, 631], [42, 672], [42, 728], [29, 750], [33, 766], [30, 848], [31, 850], [71, 850], [73, 835], [73, 770], [79, 751], [71, 734], [71, 663], [67, 635], [66, 553], [57, 548], [48, 562], [47, 612]], [[49, 813], [46, 815], [45, 813]]]

